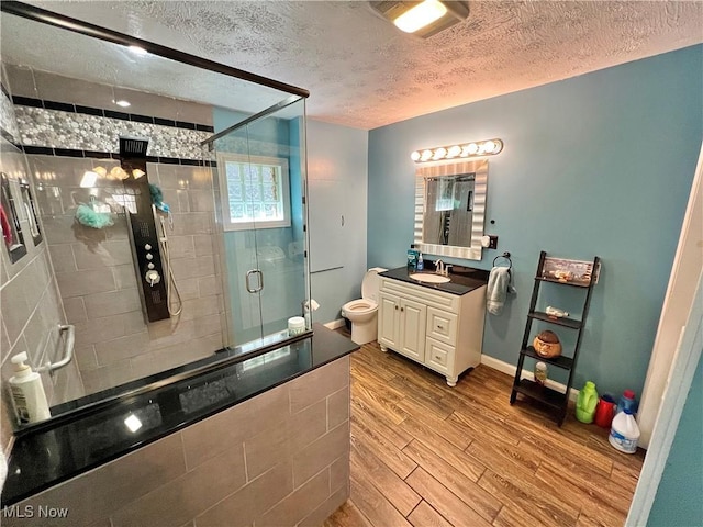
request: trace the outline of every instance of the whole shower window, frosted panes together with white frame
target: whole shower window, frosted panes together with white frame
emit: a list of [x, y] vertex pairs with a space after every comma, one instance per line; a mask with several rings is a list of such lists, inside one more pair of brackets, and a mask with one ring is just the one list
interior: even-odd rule
[[217, 154], [225, 231], [290, 226], [288, 161]]

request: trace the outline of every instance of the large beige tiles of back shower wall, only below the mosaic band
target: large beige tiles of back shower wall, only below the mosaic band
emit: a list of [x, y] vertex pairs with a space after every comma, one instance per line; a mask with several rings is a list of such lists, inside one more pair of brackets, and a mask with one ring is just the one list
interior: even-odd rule
[[[214, 203], [209, 168], [147, 164], [172, 212], [167, 227], [182, 313], [146, 324], [124, 212], [96, 229], [75, 220], [91, 194], [105, 202], [120, 183], [101, 179], [80, 188], [87, 170], [108, 171], [111, 159], [27, 156], [60, 298], [76, 325], [76, 357], [87, 393], [181, 366], [222, 348], [222, 288], [215, 269]], [[168, 225], [168, 222], [167, 222]], [[172, 300], [172, 299], [171, 299]]]

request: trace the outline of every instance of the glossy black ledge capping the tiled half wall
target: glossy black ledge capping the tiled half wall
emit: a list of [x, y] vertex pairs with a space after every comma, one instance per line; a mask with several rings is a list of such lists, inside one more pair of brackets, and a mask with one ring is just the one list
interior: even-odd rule
[[[13, 505], [112, 461], [188, 425], [242, 403], [359, 349], [346, 337], [314, 324], [312, 335], [260, 355], [213, 365], [98, 410], [47, 422], [16, 437], [0, 506]], [[125, 419], [142, 424], [130, 431]]]

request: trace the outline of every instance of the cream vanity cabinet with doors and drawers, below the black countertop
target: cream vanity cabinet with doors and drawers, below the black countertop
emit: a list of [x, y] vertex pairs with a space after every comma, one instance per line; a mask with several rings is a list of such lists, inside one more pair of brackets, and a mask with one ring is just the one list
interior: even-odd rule
[[455, 386], [459, 374], [481, 362], [486, 285], [465, 294], [381, 278], [378, 343], [444, 374]]

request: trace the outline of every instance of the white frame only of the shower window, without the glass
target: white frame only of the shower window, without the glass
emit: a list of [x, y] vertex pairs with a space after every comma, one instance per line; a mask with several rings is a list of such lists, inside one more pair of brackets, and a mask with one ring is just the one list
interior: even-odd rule
[[[268, 165], [280, 170], [280, 187], [283, 204], [283, 220], [252, 220], [233, 222], [230, 210], [230, 184], [227, 180], [227, 162], [241, 165]], [[246, 156], [241, 154], [217, 153], [217, 171], [222, 200], [222, 218], [225, 231], [250, 231], [254, 228], [284, 228], [291, 226], [290, 171], [284, 157]]]

